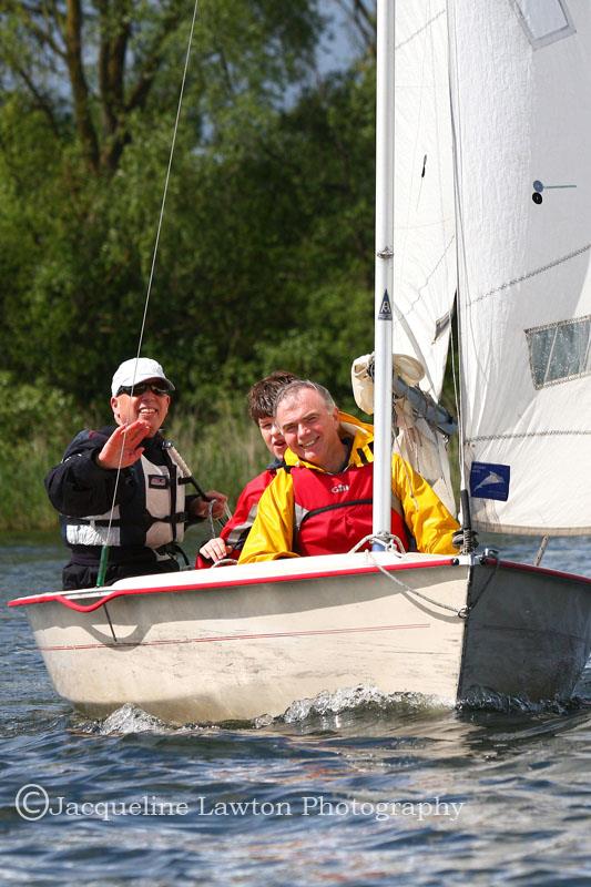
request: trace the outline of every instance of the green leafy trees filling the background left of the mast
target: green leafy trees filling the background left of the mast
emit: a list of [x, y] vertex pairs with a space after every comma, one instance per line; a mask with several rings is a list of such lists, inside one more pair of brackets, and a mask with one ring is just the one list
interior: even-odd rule
[[[63, 0], [3, 0], [0, 21], [0, 420], [35, 482], [137, 350], [191, 23], [181, 0], [80, 7], [73, 37]], [[256, 429], [228, 418], [249, 385], [285, 367], [350, 408], [371, 349], [374, 68], [318, 75], [320, 10], [198, 8], [142, 353], [210, 486], [235, 491], [257, 470]], [[251, 441], [246, 461], [216, 435]]]

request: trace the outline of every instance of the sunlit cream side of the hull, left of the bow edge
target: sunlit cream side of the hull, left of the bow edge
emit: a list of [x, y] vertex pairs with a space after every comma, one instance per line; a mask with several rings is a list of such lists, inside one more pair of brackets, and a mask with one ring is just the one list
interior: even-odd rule
[[[27, 610], [57, 691], [93, 716], [133, 702], [175, 722], [251, 718], [360, 683], [454, 701], [468, 568], [420, 560], [399, 581], [452, 611], [364, 553], [306, 559], [309, 578], [302, 561], [228, 567], [119, 582], [99, 597], [126, 593], [90, 613], [57, 600]], [[164, 591], [133, 593], [150, 583]], [[92, 597], [68, 593], [79, 605]]]

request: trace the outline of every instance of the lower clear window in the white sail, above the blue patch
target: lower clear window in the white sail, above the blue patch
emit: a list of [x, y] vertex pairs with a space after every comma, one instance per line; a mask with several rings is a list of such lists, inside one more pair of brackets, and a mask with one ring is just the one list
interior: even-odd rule
[[536, 388], [591, 373], [591, 315], [526, 329], [526, 336]]

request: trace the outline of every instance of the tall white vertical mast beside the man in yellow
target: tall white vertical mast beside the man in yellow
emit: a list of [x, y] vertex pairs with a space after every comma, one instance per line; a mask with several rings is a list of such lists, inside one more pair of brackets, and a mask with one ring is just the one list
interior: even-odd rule
[[[377, 0], [376, 288], [373, 532], [391, 530], [391, 396], [394, 284], [394, 9]], [[375, 543], [374, 548], [383, 546]]]

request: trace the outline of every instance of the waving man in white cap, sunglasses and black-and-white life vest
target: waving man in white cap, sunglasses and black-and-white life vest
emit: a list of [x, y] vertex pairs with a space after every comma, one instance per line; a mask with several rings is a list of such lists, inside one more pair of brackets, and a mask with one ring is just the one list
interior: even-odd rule
[[224, 493], [185, 495], [183, 467], [160, 434], [172, 391], [156, 360], [125, 360], [111, 386], [116, 425], [80, 431], [48, 473], [48, 495], [71, 549], [64, 589], [96, 584], [104, 546], [105, 584], [179, 570], [174, 555], [185, 524], [204, 518], [212, 500], [213, 517], [222, 516]]

